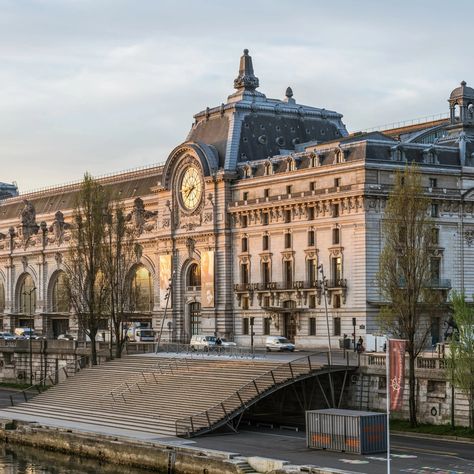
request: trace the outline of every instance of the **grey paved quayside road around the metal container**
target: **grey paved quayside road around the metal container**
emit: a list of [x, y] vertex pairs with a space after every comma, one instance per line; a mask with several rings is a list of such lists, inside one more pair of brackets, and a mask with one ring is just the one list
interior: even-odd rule
[[[351, 473], [386, 472], [386, 454], [359, 456], [306, 448], [304, 433], [245, 429], [238, 434], [195, 438], [192, 446], [263, 456], [291, 464], [335, 468]], [[474, 444], [392, 435], [392, 473], [468, 474], [474, 472]]]

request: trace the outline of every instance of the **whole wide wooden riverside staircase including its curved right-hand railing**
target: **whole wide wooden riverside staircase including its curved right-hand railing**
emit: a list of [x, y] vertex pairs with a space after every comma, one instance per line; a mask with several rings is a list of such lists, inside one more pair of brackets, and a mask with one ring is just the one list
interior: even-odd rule
[[[91, 431], [190, 437], [231, 426], [274, 391], [328, 369], [325, 354], [271, 360], [134, 355], [84, 369], [2, 416]], [[334, 363], [334, 362], [333, 362]], [[341, 362], [340, 362], [341, 363]]]

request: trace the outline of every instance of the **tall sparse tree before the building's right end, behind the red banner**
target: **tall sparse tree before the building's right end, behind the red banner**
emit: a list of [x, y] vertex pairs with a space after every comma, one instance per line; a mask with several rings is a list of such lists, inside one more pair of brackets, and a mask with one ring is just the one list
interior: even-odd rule
[[397, 172], [382, 223], [384, 243], [378, 281], [384, 304], [382, 327], [407, 340], [409, 358], [410, 424], [417, 424], [415, 360], [426, 346], [430, 315], [437, 310], [440, 293], [432, 289], [433, 222], [430, 200], [424, 195], [416, 165]]

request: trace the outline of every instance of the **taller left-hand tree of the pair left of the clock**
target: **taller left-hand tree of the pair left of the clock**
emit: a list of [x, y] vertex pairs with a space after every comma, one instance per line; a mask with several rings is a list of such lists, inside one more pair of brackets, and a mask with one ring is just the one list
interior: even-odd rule
[[73, 212], [72, 239], [65, 261], [67, 288], [79, 329], [91, 340], [92, 364], [97, 364], [96, 336], [107, 315], [109, 287], [102, 271], [104, 215], [110, 199], [88, 173], [84, 175]]

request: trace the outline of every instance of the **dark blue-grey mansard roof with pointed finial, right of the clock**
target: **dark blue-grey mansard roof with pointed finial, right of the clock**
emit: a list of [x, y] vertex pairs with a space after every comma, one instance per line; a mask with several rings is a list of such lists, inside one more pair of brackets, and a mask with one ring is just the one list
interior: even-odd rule
[[291, 88], [283, 100], [269, 99], [256, 90], [258, 85], [245, 50], [234, 81], [237, 91], [227, 103], [196, 114], [186, 140], [213, 145], [219, 166], [232, 170], [238, 163], [295, 151], [300, 143], [347, 135], [341, 114], [297, 104]]

